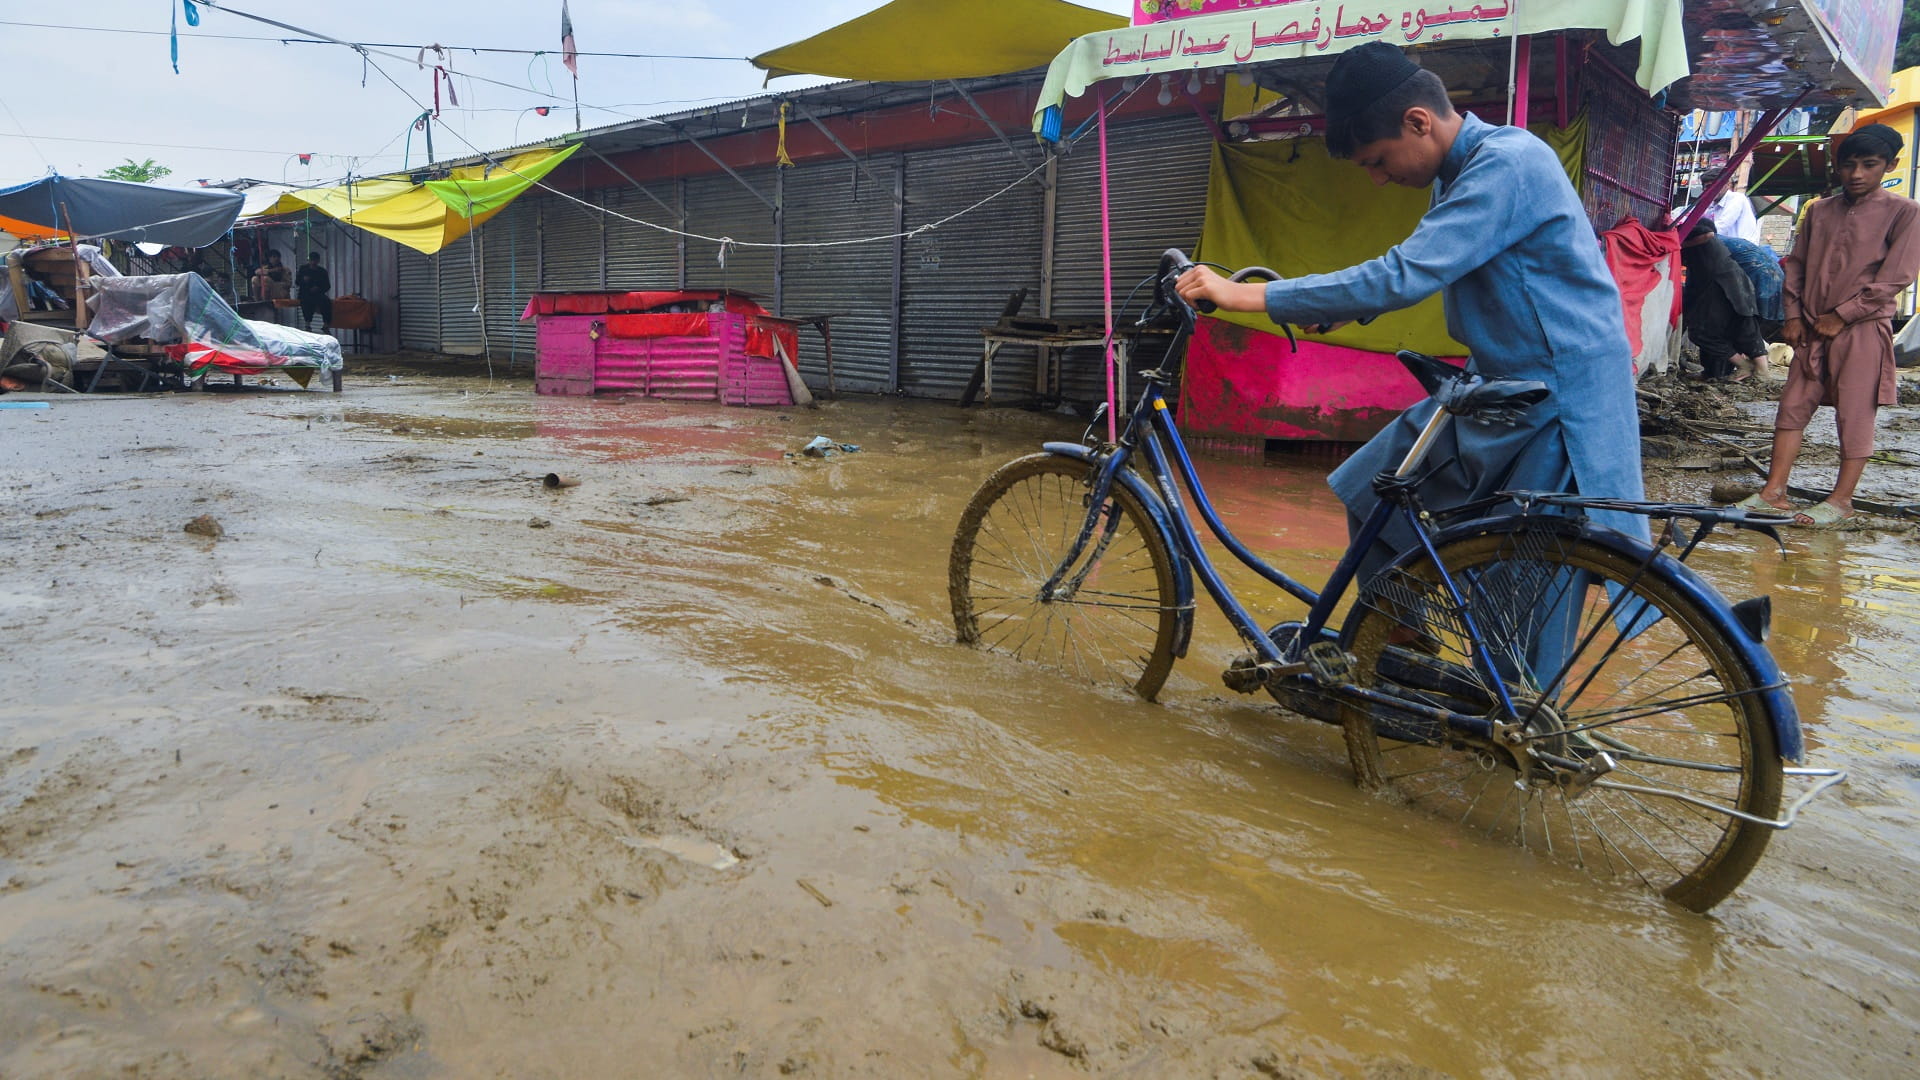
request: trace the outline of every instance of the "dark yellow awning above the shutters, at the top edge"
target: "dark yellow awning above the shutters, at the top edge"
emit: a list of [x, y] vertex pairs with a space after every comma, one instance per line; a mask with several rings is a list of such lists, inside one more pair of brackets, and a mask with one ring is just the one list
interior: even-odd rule
[[1064, 0], [893, 0], [806, 40], [753, 58], [768, 81], [829, 75], [870, 83], [929, 83], [1043, 67], [1081, 35], [1127, 19]]

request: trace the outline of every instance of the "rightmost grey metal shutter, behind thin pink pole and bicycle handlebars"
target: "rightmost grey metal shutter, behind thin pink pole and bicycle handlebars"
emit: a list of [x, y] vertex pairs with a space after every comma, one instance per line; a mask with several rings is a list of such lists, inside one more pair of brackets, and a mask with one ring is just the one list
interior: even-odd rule
[[[1194, 117], [1165, 117], [1116, 125], [1108, 133], [1108, 200], [1114, 229], [1114, 321], [1139, 315], [1119, 306], [1135, 282], [1154, 273], [1167, 248], [1192, 252], [1206, 215], [1212, 138]], [[1100, 323], [1100, 154], [1085, 144], [1060, 161], [1054, 204], [1054, 319]], [[1146, 336], [1131, 369], [1165, 356], [1165, 338]], [[1069, 402], [1106, 400], [1106, 371], [1098, 350], [1077, 348], [1058, 357], [1060, 396]], [[1129, 380], [1129, 388], [1137, 388]], [[1123, 402], [1125, 409], [1129, 404]]]

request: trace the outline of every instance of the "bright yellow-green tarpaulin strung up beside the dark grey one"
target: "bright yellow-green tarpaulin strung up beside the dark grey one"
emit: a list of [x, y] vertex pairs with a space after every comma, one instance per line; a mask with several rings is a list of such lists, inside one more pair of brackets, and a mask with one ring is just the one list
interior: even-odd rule
[[401, 177], [380, 177], [332, 188], [296, 190], [253, 217], [313, 208], [432, 256], [505, 209], [578, 148], [574, 144], [563, 150], [530, 150], [499, 165], [465, 165], [444, 181], [422, 184]]

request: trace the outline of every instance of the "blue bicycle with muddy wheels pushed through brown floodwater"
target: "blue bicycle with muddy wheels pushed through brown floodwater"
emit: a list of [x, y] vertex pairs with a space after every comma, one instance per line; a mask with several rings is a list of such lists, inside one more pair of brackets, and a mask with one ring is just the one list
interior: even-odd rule
[[[1156, 273], [1140, 321], [1171, 313], [1179, 327], [1167, 361], [1140, 373], [1117, 442], [1096, 417], [1081, 444], [1002, 465], [968, 503], [948, 563], [960, 642], [1152, 700], [1187, 653], [1198, 575], [1250, 648], [1227, 686], [1340, 724], [1361, 786], [1693, 911], [1738, 888], [1772, 832], [1845, 780], [1782, 765], [1803, 744], [1764, 644], [1770, 601], [1730, 605], [1684, 565], [1716, 527], [1778, 542], [1786, 517], [1548, 492], [1423, 505], [1446, 425], [1511, 421], [1546, 398], [1540, 382], [1402, 352], [1440, 407], [1375, 479], [1380, 502], [1327, 584], [1315, 592], [1254, 555], [1208, 502], [1164, 396], [1194, 325], [1173, 292], [1188, 267], [1169, 250]], [[1261, 628], [1233, 596], [1175, 469], [1219, 544], [1304, 603], [1304, 621]], [[1655, 542], [1597, 527], [1588, 509], [1645, 515]], [[1334, 626], [1361, 553], [1394, 519], [1417, 544], [1357, 582]], [[1811, 786], [1782, 813], [1788, 776]]]

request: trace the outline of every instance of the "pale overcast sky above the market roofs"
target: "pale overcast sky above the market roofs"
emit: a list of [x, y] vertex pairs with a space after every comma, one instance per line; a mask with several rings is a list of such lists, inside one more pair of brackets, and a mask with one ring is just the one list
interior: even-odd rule
[[[227, 2], [227, 0], [223, 0]], [[570, 0], [582, 54], [647, 52], [753, 56], [862, 12], [881, 0]], [[1108, 12], [1131, 0], [1081, 0]], [[232, 10], [292, 23], [326, 37], [390, 42], [378, 71], [330, 44], [282, 44], [286, 31], [232, 10], [202, 8], [200, 27], [180, 19], [180, 73], [167, 58], [169, 15], [179, 0], [88, 0], [86, 4], [0, 2], [0, 40], [13, 58], [0, 81], [0, 186], [48, 169], [92, 177], [125, 160], [173, 169], [167, 184], [196, 179], [319, 183], [348, 171], [396, 171], [420, 106], [432, 104], [430, 71], [419, 46], [559, 50], [561, 0], [232, 0]], [[38, 23], [38, 25], [31, 25]], [[67, 27], [67, 29], [54, 29]], [[100, 33], [71, 27], [102, 27]], [[223, 40], [246, 37], [261, 40]], [[442, 98], [434, 131], [438, 158], [503, 148], [572, 131], [572, 81], [559, 54], [455, 52], [459, 106]], [[499, 86], [472, 77], [509, 83]], [[361, 81], [365, 77], [365, 86]], [[678, 111], [766, 92], [745, 60], [580, 58], [584, 127]], [[818, 79], [780, 79], [772, 90]], [[551, 92], [547, 88], [551, 86]], [[553, 106], [551, 115], [528, 111]], [[298, 154], [313, 154], [301, 165]], [[413, 133], [411, 163], [424, 158]]]

